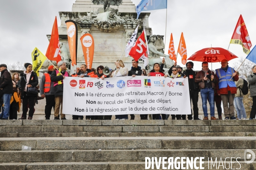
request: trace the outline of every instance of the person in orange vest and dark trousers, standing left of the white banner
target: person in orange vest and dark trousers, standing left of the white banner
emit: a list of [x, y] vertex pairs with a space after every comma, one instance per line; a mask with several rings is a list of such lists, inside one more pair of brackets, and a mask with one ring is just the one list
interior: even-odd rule
[[48, 71], [42, 76], [39, 86], [41, 97], [46, 99], [46, 105], [44, 109], [46, 120], [50, 119], [52, 108], [53, 111], [55, 109], [55, 92], [53, 86], [54, 83], [51, 81], [51, 74], [54, 70], [55, 68], [53, 67], [53, 65], [50, 65], [48, 67]]

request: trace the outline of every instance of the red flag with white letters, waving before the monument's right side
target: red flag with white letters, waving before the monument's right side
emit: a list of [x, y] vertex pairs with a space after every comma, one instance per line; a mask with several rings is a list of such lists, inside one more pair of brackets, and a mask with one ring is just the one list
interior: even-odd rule
[[143, 31], [134, 46], [131, 48], [129, 55], [138, 61], [146, 51], [145, 34]]

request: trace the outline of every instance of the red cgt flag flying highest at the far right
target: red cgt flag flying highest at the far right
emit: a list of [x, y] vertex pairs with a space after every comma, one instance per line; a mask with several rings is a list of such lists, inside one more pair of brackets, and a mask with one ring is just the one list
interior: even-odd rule
[[242, 45], [244, 53], [247, 55], [250, 53], [250, 48], [252, 46], [252, 43], [250, 41], [250, 37], [249, 37], [242, 15], [240, 15], [238, 19], [235, 31], [230, 40], [230, 44]]

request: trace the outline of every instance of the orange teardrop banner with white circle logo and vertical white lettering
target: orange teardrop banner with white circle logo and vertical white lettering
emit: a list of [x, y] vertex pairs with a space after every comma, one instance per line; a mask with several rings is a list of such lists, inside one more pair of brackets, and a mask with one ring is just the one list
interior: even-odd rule
[[81, 38], [81, 44], [84, 52], [84, 60], [87, 68], [91, 69], [93, 65], [94, 40], [91, 34], [84, 34]]

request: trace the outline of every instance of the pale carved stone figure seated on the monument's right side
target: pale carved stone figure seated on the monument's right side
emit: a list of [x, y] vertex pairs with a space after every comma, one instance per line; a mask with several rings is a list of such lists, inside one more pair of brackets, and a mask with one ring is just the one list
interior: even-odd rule
[[154, 63], [162, 63], [162, 59], [160, 57], [166, 57], [164, 63], [164, 70], [168, 72], [168, 68], [171, 68], [174, 65], [172, 59], [170, 59], [169, 54], [163, 54], [164, 43], [163, 38], [160, 35], [151, 35], [148, 40], [148, 66], [151, 70], [153, 68]]

